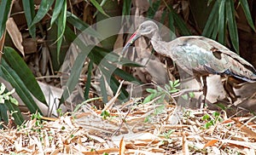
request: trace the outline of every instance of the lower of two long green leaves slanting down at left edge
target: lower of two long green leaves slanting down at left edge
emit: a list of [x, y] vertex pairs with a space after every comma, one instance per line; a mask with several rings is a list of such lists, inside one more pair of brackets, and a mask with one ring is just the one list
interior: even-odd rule
[[2, 60], [0, 69], [0, 75], [15, 88], [16, 93], [20, 96], [24, 104], [26, 104], [30, 112], [41, 112], [36, 102], [32, 99], [32, 95], [26, 88], [25, 83], [21, 81], [19, 75], [11, 69], [11, 66], [9, 66], [4, 59]]

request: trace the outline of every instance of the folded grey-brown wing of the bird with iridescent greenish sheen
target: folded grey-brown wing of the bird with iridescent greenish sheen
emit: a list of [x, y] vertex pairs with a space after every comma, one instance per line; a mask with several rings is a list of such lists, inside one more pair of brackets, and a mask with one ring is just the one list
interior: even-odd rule
[[182, 68], [230, 74], [245, 81], [256, 80], [256, 71], [250, 63], [207, 37], [178, 37], [169, 46], [172, 57]]

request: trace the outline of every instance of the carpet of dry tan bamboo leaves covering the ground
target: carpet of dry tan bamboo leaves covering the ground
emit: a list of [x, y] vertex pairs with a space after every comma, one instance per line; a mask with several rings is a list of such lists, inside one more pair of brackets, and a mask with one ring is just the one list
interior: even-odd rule
[[[174, 106], [152, 103], [102, 111], [82, 106], [61, 118], [27, 121], [17, 129], [1, 130], [1, 153], [15, 154], [255, 154], [255, 120], [227, 118], [225, 112], [189, 110], [180, 124], [170, 125]], [[203, 120], [203, 116], [208, 116]], [[206, 118], [206, 117], [204, 117]], [[145, 123], [145, 119], [148, 120]], [[209, 128], [206, 123], [213, 121]]]

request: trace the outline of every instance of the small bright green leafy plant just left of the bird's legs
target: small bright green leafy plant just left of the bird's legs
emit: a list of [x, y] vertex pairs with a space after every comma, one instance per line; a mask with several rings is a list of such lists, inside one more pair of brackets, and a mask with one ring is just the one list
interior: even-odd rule
[[148, 103], [151, 100], [154, 100], [156, 97], [160, 96], [160, 99], [157, 100], [157, 103], [163, 102], [165, 100], [166, 95], [170, 95], [179, 91], [177, 87], [180, 85], [179, 80], [172, 82], [170, 81], [165, 85], [165, 88], [161, 88], [157, 86], [156, 89], [146, 89], [146, 91], [150, 94], [144, 100], [143, 103]]

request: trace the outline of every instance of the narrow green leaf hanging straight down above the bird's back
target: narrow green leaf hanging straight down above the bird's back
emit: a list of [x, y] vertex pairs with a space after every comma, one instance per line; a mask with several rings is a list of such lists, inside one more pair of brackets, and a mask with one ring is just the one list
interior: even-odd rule
[[224, 7], [225, 1], [218, 0], [219, 8], [218, 8], [218, 43], [225, 43], [225, 15], [224, 15]]

